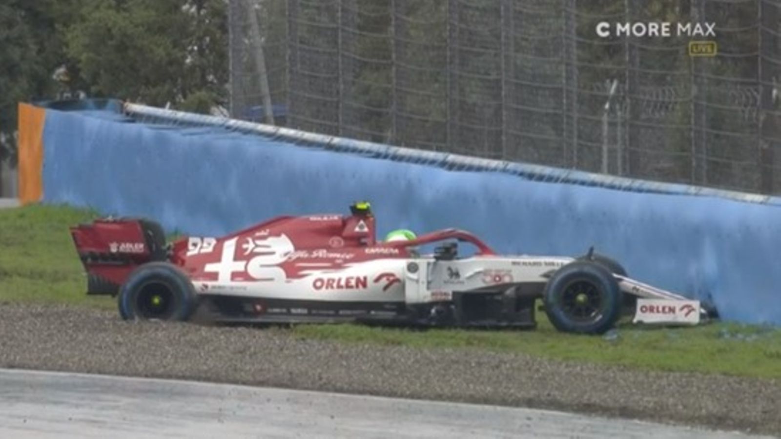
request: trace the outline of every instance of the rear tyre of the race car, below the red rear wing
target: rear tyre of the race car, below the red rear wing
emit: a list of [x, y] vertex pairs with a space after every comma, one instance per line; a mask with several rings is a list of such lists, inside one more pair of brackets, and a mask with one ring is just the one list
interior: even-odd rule
[[197, 306], [192, 282], [169, 262], [148, 262], [127, 277], [119, 289], [119, 315], [126, 320], [190, 318]]

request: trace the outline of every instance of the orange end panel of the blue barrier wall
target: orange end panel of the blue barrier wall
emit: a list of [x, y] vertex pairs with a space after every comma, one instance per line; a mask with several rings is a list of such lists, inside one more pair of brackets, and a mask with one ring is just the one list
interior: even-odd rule
[[22, 204], [41, 201], [44, 193], [44, 120], [46, 110], [19, 104], [19, 200]]

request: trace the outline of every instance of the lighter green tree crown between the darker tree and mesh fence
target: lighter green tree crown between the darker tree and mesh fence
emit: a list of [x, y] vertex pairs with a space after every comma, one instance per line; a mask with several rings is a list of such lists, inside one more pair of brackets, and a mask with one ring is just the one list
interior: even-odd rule
[[66, 30], [66, 53], [89, 95], [191, 106], [223, 97], [225, 7], [219, 0], [86, 0]]

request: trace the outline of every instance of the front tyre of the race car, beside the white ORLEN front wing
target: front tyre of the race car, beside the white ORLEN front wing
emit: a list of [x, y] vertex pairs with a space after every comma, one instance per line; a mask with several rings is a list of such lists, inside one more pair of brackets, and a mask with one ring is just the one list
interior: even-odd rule
[[621, 316], [618, 281], [602, 264], [576, 261], [558, 269], [545, 285], [547, 318], [562, 332], [603, 334]]

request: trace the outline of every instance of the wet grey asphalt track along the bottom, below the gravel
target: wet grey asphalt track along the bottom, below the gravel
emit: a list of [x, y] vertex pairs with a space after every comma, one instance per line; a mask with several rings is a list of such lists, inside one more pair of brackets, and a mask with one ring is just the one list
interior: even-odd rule
[[496, 405], [0, 369], [0, 437], [750, 436]]

